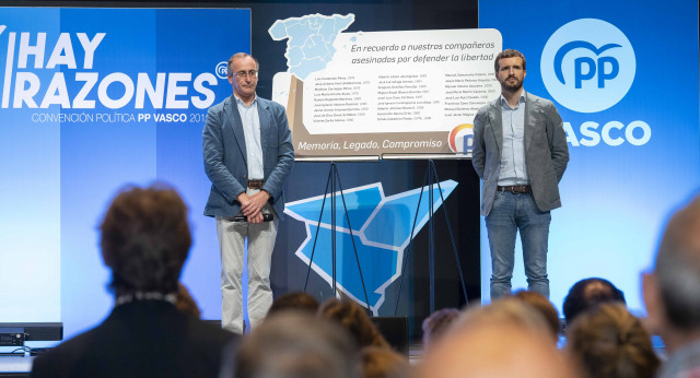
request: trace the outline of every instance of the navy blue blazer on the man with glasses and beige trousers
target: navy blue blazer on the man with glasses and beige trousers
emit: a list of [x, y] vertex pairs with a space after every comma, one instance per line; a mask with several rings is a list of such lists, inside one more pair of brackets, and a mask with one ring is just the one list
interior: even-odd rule
[[[202, 132], [205, 172], [211, 180], [205, 206], [205, 215], [208, 216], [238, 214], [241, 203], [236, 198], [246, 190], [249, 179], [243, 122], [233, 96], [209, 108]], [[265, 175], [262, 189], [270, 193], [272, 208], [283, 218], [282, 186], [294, 164], [292, 133], [284, 107], [260, 97], [257, 101]]]

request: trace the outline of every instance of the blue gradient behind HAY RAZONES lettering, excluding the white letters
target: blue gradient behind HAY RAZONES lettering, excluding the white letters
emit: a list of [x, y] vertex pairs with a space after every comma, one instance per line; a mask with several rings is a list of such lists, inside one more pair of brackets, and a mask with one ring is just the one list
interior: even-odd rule
[[[55, 72], [66, 74], [69, 97], [82, 86], [74, 72], [98, 72], [100, 80], [124, 72], [136, 85], [138, 72], [155, 83], [156, 72], [191, 72], [186, 96], [197, 75], [214, 73], [220, 61], [250, 51], [250, 11], [232, 9], [0, 9], [0, 80], [4, 79], [9, 32], [46, 32], [45, 63], [59, 33], [71, 33], [77, 70], [59, 66], [37, 73], [42, 90]], [[74, 33], [106, 33], [92, 70], [82, 69], [83, 49]], [[16, 52], [15, 62], [16, 67]], [[15, 70], [16, 71], [16, 70]], [[23, 70], [24, 71], [24, 70]], [[215, 103], [231, 95], [225, 79], [212, 86]], [[2, 86], [0, 86], [1, 88]], [[166, 84], [167, 88], [167, 84]], [[97, 98], [97, 84], [89, 99]], [[122, 86], [109, 86], [112, 98]], [[12, 103], [11, 103], [12, 104]], [[187, 122], [35, 123], [35, 113], [187, 114]], [[0, 109], [0, 322], [62, 321], [68, 339], [97, 324], [113, 305], [108, 270], [100, 256], [97, 226], [117, 190], [127, 184], [163, 180], [176, 187], [190, 209], [194, 246], [183, 281], [197, 298], [202, 318], [220, 317], [220, 259], [215, 226], [202, 216], [209, 194], [203, 174], [201, 130], [207, 109], [144, 109], [135, 101], [120, 109], [96, 102], [95, 109]], [[195, 116], [189, 121], [190, 115]], [[57, 284], [60, 283], [60, 284]]]

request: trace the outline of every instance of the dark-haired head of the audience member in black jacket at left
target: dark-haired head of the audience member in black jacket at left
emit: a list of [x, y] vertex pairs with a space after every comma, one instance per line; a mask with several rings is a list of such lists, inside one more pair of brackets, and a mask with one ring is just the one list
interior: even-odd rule
[[175, 294], [191, 245], [187, 206], [164, 185], [119, 192], [100, 225], [117, 296]]

